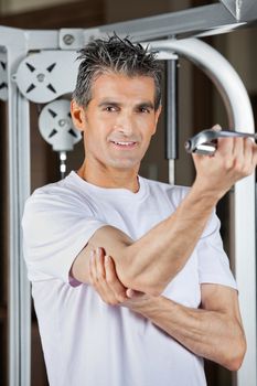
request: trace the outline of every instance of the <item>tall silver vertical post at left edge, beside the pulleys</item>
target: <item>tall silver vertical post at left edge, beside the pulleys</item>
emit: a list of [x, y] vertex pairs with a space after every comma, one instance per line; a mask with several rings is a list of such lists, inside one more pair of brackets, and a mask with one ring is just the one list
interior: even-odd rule
[[8, 52], [8, 175], [9, 175], [9, 385], [29, 386], [31, 368], [31, 296], [22, 257], [21, 216], [30, 194], [29, 103], [11, 75], [26, 54], [22, 31], [2, 35]]

